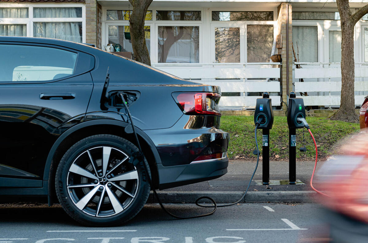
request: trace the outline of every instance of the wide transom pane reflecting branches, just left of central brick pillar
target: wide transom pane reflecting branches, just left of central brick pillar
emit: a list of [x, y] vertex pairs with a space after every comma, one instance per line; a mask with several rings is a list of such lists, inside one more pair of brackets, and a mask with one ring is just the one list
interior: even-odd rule
[[212, 11], [213, 21], [273, 20], [273, 12], [264, 11]]

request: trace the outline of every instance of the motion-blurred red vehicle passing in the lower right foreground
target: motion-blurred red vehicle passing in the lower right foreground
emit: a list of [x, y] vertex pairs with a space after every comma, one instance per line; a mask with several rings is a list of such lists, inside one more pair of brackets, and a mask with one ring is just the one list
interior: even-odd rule
[[[364, 104], [363, 124], [367, 126], [367, 98]], [[329, 229], [321, 242], [368, 242], [367, 138], [365, 131], [346, 140], [340, 150], [343, 155], [326, 161], [316, 173], [315, 187], [328, 195], [318, 197]]]

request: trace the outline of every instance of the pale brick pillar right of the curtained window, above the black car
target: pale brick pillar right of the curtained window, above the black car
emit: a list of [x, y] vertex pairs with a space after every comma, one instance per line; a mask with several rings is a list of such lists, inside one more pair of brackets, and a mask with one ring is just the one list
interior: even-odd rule
[[86, 43], [97, 43], [97, 1], [86, 0]]

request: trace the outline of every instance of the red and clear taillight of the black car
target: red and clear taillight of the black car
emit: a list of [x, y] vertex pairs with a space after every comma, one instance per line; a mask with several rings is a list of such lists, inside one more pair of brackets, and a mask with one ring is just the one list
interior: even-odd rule
[[174, 92], [173, 98], [186, 115], [221, 116], [217, 93]]

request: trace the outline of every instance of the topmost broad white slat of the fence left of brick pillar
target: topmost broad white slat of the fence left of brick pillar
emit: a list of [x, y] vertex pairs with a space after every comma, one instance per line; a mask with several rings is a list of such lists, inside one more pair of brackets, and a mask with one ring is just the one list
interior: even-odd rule
[[182, 79], [279, 78], [280, 68], [160, 68]]

